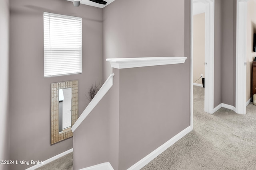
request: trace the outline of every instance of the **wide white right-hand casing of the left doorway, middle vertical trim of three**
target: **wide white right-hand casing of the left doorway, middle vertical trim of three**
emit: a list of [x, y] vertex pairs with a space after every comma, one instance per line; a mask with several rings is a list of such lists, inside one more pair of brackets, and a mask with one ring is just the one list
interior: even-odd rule
[[205, 0], [204, 111], [214, 113], [214, 0]]

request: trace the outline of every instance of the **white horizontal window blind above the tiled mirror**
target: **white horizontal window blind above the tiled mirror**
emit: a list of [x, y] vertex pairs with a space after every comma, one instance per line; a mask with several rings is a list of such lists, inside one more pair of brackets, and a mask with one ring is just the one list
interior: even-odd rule
[[44, 12], [44, 77], [82, 73], [82, 18]]

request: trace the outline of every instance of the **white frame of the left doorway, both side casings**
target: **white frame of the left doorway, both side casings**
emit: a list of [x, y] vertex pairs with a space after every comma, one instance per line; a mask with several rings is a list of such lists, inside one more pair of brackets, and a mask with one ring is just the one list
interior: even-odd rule
[[[214, 0], [201, 0], [205, 4], [205, 88], [204, 111], [214, 113]], [[193, 129], [193, 0], [190, 0], [190, 125]]]

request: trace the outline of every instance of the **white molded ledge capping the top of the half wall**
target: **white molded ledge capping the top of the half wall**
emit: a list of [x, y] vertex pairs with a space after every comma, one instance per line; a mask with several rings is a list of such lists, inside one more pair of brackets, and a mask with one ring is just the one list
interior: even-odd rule
[[113, 58], [106, 59], [113, 68], [134, 68], [145, 66], [158, 66], [167, 64], [185, 63], [187, 57], [141, 57], [141, 58]]

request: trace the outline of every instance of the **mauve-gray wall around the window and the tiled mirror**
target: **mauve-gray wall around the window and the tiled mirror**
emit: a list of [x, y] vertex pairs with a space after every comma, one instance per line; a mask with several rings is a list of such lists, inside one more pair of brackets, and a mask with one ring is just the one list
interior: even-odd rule
[[[43, 12], [82, 17], [82, 74], [43, 77]], [[75, 8], [66, 0], [10, 1], [11, 160], [44, 161], [73, 147], [72, 138], [50, 145], [50, 85], [79, 80], [78, 114], [82, 113], [91, 84], [102, 81], [102, 25], [100, 8], [82, 4]]]

